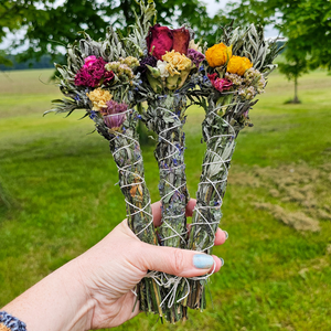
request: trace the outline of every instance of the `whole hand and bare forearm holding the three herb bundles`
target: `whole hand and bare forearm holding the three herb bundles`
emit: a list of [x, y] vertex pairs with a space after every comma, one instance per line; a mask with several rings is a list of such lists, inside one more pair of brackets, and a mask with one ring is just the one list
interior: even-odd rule
[[[192, 216], [194, 205], [195, 201], [191, 200], [186, 216]], [[156, 226], [161, 222], [160, 207], [160, 202], [152, 205]], [[225, 233], [218, 228], [215, 245], [225, 239]], [[136, 297], [131, 289], [148, 270], [194, 277], [205, 275], [213, 264], [218, 271], [221, 260], [216, 256], [142, 243], [124, 221], [89, 250], [42, 279], [0, 311], [25, 322], [29, 331], [113, 328], [139, 312], [139, 305], [132, 312]]]

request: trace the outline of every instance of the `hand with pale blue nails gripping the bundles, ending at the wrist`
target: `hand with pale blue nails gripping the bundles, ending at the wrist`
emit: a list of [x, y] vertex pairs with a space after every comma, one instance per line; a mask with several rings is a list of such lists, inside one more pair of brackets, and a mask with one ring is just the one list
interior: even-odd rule
[[[192, 216], [195, 200], [186, 206], [186, 216]], [[161, 203], [152, 205], [154, 225], [161, 222]], [[218, 228], [215, 245], [225, 242], [226, 236]], [[221, 260], [213, 256], [210, 264], [194, 267], [193, 250], [153, 246], [140, 242], [128, 227], [126, 220], [121, 222], [102, 242], [77, 258], [87, 298], [93, 302], [93, 313], [86, 329], [117, 327], [139, 312], [139, 305], [132, 308], [136, 297], [131, 289], [146, 276], [148, 270], [163, 271], [181, 277], [205, 275], [221, 268]], [[210, 259], [212, 259], [210, 257]]]

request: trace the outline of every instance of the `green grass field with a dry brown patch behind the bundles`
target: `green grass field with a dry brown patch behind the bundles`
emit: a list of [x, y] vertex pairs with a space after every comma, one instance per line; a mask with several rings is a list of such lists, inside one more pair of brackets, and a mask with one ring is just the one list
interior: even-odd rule
[[[0, 307], [103, 238], [125, 217], [117, 170], [93, 122], [43, 111], [60, 96], [50, 71], [0, 73]], [[228, 241], [212, 301], [185, 324], [140, 314], [118, 330], [331, 330], [331, 76], [270, 76], [241, 132], [224, 199]], [[191, 196], [205, 146], [203, 110], [188, 110]], [[146, 178], [159, 199], [153, 146]]]

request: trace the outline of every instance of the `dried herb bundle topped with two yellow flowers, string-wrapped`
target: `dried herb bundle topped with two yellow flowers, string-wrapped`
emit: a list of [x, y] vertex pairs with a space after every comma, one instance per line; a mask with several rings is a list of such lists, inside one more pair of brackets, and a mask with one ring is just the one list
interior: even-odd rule
[[[222, 218], [221, 206], [236, 138], [246, 126], [253, 126], [249, 110], [254, 98], [264, 93], [266, 77], [279, 50], [276, 41], [266, 41], [261, 28], [223, 31], [218, 44], [206, 50], [206, 63], [201, 78], [201, 98], [205, 110], [202, 124], [206, 151], [196, 192], [196, 206], [188, 247], [212, 253], [215, 233]], [[206, 79], [206, 76], [209, 79]], [[191, 281], [185, 302], [192, 309], [205, 308], [204, 281]]]

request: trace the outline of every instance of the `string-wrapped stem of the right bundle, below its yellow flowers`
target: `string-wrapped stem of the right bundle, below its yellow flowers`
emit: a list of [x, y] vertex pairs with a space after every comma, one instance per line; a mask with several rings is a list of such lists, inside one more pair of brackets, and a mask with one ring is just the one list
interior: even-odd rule
[[[202, 124], [206, 151], [196, 192], [189, 249], [212, 254], [215, 233], [222, 218], [221, 206], [235, 149], [235, 139], [239, 130], [244, 128], [243, 113], [247, 107], [249, 109], [249, 104], [245, 103], [216, 107], [214, 100], [209, 99], [206, 116]], [[185, 305], [192, 309], [205, 308], [206, 281], [190, 281], [191, 292]]]

